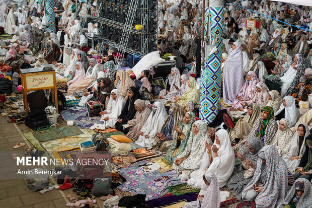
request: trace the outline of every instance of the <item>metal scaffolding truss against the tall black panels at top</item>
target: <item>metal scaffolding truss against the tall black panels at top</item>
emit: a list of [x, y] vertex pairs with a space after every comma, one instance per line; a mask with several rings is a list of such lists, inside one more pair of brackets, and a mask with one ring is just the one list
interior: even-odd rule
[[[126, 2], [126, 1], [125, 1]], [[148, 4], [149, 3], [149, 4]], [[114, 21], [112, 19], [109, 19], [107, 17], [107, 14], [105, 15], [105, 12], [103, 11], [104, 6], [112, 6], [112, 7], [122, 7], [121, 5], [109, 5], [110, 3], [106, 1], [99, 1], [98, 2], [98, 14], [99, 16], [96, 18], [98, 22], [98, 30], [99, 30], [99, 47], [98, 50], [101, 53], [104, 48], [104, 44], [108, 44], [110, 46], [113, 46], [117, 48], [117, 54], [119, 54], [119, 57], [123, 57], [125, 53], [129, 54], [139, 54], [141, 57], [146, 55], [148, 52], [151, 52], [152, 50], [148, 48], [148, 42], [150, 40], [150, 37], [152, 36], [151, 30], [156, 31], [157, 28], [153, 28], [153, 25], [157, 26], [157, 18], [154, 18], [155, 21], [153, 25], [150, 24], [150, 18], [152, 15], [157, 16], [157, 9], [155, 9], [155, 13], [151, 13], [151, 4], [149, 0], [129, 0], [127, 5], [123, 5], [123, 7], [126, 7], [124, 9], [127, 10], [125, 21]], [[157, 6], [157, 4], [155, 4]], [[136, 17], [136, 21], [134, 21]], [[135, 28], [135, 25], [142, 25], [141, 30], [137, 30]], [[105, 27], [111, 27], [114, 29], [117, 29], [118, 31], [121, 31], [121, 37], [120, 40], [114, 41], [113, 38], [105, 37]], [[130, 37], [130, 35], [132, 37]], [[133, 38], [135, 36], [137, 41], [137, 47], [131, 47], [129, 46], [131, 43], [130, 38]], [[156, 35], [155, 35], [156, 36]], [[156, 48], [153, 48], [155, 50]], [[116, 64], [120, 65], [122, 58], [116, 60]]]

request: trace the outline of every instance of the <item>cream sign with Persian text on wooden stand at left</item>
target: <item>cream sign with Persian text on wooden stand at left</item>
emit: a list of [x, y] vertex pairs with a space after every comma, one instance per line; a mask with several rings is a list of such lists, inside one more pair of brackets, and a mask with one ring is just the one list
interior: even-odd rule
[[47, 87], [53, 88], [53, 74], [37, 74], [26, 76], [26, 85], [28, 89], [42, 89]]

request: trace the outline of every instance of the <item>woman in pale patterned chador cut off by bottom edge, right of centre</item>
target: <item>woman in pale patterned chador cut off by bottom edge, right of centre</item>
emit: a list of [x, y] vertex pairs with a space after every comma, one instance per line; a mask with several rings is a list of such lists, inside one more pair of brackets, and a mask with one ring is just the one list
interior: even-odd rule
[[186, 202], [183, 208], [219, 208], [220, 207], [220, 189], [216, 176], [207, 171], [202, 175], [205, 185], [203, 191], [198, 195], [196, 201]]

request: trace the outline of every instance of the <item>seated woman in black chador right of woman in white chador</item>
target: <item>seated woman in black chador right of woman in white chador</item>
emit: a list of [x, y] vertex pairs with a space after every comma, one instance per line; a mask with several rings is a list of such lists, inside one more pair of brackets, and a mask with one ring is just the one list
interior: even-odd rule
[[[122, 96], [122, 94], [120, 94]], [[123, 96], [122, 96], [123, 97]], [[123, 124], [126, 124], [128, 120], [131, 120], [135, 113], [134, 101], [139, 98], [139, 92], [136, 87], [130, 87], [127, 90], [127, 100], [126, 104], [122, 108], [120, 115], [118, 116], [118, 120], [115, 123], [115, 128], [119, 131], [123, 131]]]

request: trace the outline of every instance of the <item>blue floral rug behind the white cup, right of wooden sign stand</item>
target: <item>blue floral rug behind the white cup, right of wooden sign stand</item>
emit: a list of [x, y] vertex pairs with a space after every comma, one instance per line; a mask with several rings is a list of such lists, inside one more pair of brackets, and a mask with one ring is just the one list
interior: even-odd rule
[[74, 124], [80, 128], [89, 128], [93, 126], [95, 123], [102, 124], [103, 122], [100, 121], [100, 116], [90, 117], [90, 120], [87, 116], [87, 109], [86, 107], [71, 107], [67, 108], [66, 110], [61, 111], [61, 116], [64, 120], [73, 120]]

